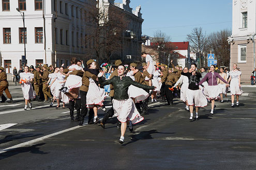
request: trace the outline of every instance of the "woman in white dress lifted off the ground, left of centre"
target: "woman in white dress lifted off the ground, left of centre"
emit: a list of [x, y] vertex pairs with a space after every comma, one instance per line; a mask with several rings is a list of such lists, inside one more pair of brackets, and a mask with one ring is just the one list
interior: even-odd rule
[[72, 65], [68, 67], [68, 73], [64, 74], [63, 72], [61, 72], [63, 75], [68, 76], [65, 83], [65, 87], [62, 88], [61, 91], [64, 92], [72, 100], [78, 98], [79, 87], [82, 86], [82, 77], [70, 73], [76, 70], [83, 71], [83, 67], [79, 67], [77, 65], [76, 57], [72, 57], [70, 62]]

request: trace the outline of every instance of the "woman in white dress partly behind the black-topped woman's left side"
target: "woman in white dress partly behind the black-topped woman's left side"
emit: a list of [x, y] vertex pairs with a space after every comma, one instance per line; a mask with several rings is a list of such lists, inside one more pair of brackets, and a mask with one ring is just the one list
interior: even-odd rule
[[[183, 73], [188, 73], [188, 68], [184, 67], [183, 69]], [[189, 106], [188, 106], [188, 101], [186, 99], [186, 94], [187, 94], [187, 89], [188, 89], [188, 77], [181, 75], [178, 79], [178, 81], [174, 84], [174, 86], [172, 88], [177, 87], [179, 84], [182, 84], [182, 87], [180, 88], [180, 100], [182, 100], [186, 107], [186, 111], [189, 111]]]

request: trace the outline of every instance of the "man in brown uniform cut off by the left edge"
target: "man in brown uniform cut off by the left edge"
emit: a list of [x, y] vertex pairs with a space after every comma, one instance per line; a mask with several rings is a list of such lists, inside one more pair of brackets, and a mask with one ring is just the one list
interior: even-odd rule
[[[13, 103], [11, 94], [8, 89], [9, 83], [7, 81], [7, 75], [4, 72], [4, 70], [5, 70], [4, 67], [0, 66], [0, 96], [2, 96], [3, 92], [5, 91], [5, 94], [10, 99], [10, 103]], [[6, 98], [3, 97], [1, 103], [4, 103], [5, 100], [6, 100]]]

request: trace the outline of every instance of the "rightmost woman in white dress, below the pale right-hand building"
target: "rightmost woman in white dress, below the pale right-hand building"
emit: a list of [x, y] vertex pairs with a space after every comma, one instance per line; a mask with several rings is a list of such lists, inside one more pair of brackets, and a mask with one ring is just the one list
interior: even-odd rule
[[231, 93], [231, 107], [234, 107], [234, 100], [236, 95], [236, 106], [239, 106], [239, 95], [243, 94], [240, 76], [241, 72], [237, 70], [237, 64], [233, 64], [233, 70], [229, 72], [229, 81], [230, 82], [230, 93]]

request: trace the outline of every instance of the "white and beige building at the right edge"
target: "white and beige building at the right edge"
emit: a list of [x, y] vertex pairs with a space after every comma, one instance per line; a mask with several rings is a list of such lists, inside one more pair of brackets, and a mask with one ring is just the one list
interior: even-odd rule
[[230, 70], [237, 63], [241, 80], [248, 82], [255, 67], [256, 0], [233, 0]]

